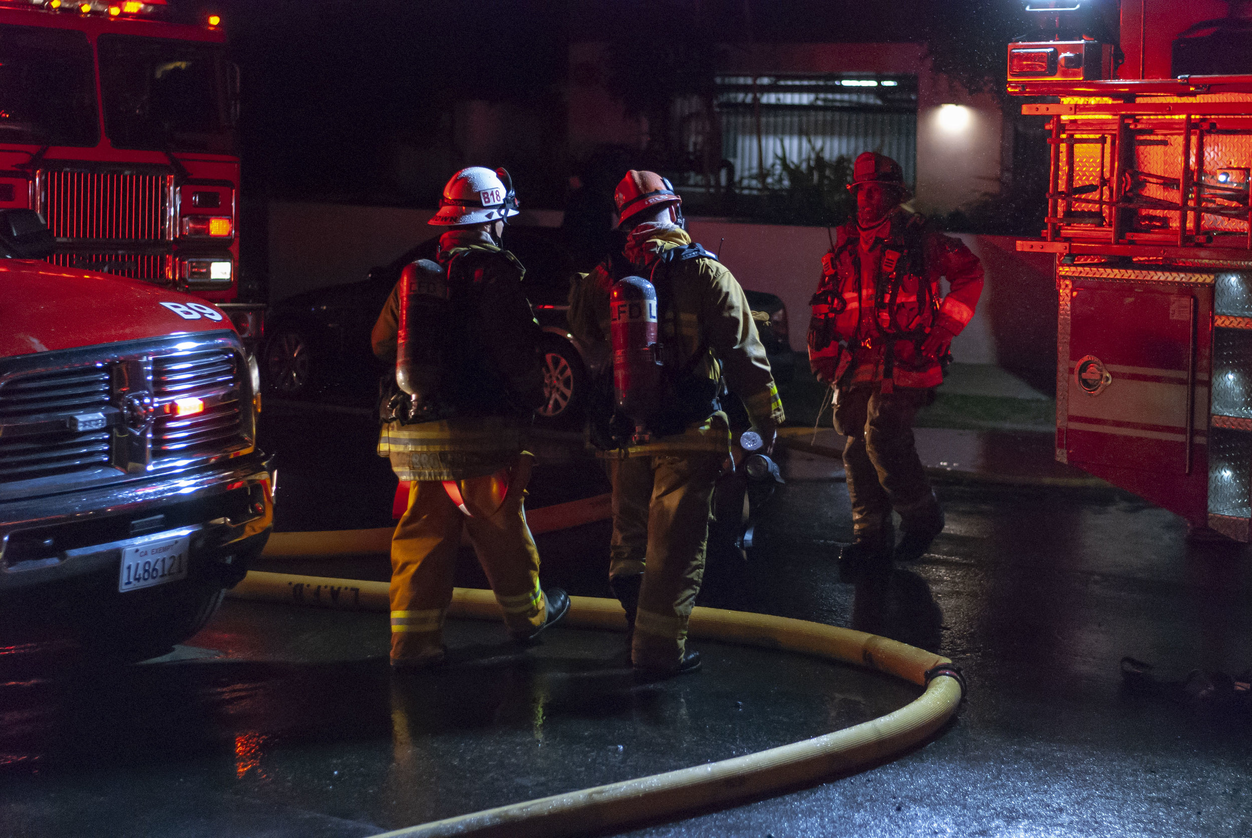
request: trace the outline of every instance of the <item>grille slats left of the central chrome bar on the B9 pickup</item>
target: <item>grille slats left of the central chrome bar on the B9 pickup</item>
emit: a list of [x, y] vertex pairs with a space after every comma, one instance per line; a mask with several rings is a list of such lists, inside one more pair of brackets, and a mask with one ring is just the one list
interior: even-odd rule
[[109, 370], [104, 364], [38, 373], [0, 385], [0, 424], [56, 422], [45, 433], [0, 435], [0, 482], [65, 474], [109, 464], [108, 429], [75, 432], [69, 418], [109, 406]]

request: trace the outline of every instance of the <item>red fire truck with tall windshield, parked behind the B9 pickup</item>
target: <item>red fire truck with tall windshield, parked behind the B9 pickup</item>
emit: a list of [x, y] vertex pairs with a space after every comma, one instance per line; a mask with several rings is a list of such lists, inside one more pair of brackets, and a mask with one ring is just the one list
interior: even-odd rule
[[263, 306], [238, 299], [238, 86], [217, 15], [0, 0], [0, 209], [44, 216], [54, 265], [189, 291], [255, 341]]

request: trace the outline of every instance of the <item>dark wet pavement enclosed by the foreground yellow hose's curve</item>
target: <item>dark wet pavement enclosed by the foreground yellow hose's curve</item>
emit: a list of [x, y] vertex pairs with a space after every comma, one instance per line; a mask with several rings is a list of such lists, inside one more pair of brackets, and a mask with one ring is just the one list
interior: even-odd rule
[[[169, 834], [182, 834], [205, 794], [382, 830], [760, 750], [919, 693], [875, 673], [714, 643], [701, 644], [699, 678], [639, 684], [618, 635], [563, 630], [521, 650], [502, 643], [498, 625], [475, 623], [451, 625], [451, 665], [392, 674], [386, 615], [228, 603], [215, 634], [224, 645], [235, 623], [273, 638], [274, 659], [182, 659], [0, 687], [0, 777], [14, 792], [0, 813], [70, 793], [60, 825], [108, 817], [133, 829], [126, 795], [88, 800], [81, 790], [111, 795], [144, 777], [148, 793], [168, 798], [143, 817]], [[305, 633], [336, 629], [343, 635], [329, 650], [352, 657], [290, 660]], [[153, 773], [158, 765], [167, 770]], [[197, 792], [183, 799], [187, 783]]]

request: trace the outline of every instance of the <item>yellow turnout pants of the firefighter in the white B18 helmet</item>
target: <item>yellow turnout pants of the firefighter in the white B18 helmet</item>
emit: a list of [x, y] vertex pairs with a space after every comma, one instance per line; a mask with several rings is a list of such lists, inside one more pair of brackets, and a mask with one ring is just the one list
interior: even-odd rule
[[392, 535], [392, 659], [422, 659], [442, 652], [462, 530], [496, 592], [506, 628], [528, 634], [543, 624], [540, 554], [522, 508], [530, 477], [531, 457], [523, 454], [507, 474], [503, 497], [506, 473], [449, 482], [470, 515], [438, 480], [413, 483], [408, 510]]

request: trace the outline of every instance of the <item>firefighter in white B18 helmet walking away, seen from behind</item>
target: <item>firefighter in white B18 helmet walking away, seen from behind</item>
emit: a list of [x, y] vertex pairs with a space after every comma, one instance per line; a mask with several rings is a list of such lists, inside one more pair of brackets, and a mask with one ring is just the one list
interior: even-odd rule
[[389, 383], [403, 390], [392, 388], [383, 399], [378, 453], [411, 482], [392, 535], [397, 668], [444, 657], [462, 530], [515, 639], [533, 639], [570, 607], [563, 590], [540, 588], [540, 555], [522, 508], [532, 460], [522, 432], [543, 404], [543, 373], [540, 326], [521, 286], [525, 269], [501, 246], [506, 219], [516, 214], [503, 169], [453, 175], [429, 220], [447, 228], [437, 261], [406, 266], [374, 324], [374, 354], [386, 361], [399, 355]]

